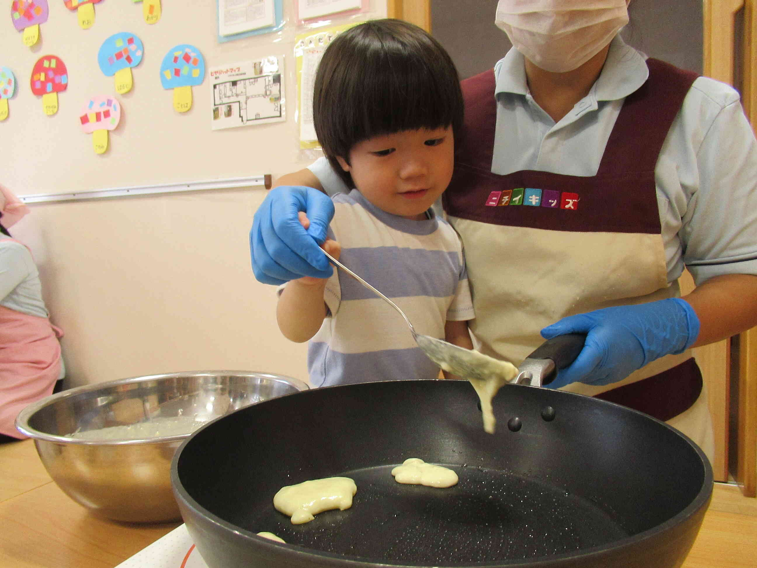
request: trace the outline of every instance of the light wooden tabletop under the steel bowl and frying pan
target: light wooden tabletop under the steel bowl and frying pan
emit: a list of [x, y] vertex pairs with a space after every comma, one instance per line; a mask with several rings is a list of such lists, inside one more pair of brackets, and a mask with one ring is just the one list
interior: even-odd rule
[[[113, 568], [179, 526], [92, 517], [55, 485], [31, 440], [0, 445], [0, 568]], [[755, 568], [757, 501], [715, 484], [683, 568]]]

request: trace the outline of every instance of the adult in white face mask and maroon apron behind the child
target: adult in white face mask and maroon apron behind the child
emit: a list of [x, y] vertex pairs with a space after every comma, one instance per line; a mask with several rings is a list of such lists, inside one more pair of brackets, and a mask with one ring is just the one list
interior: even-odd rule
[[[646, 59], [627, 22], [625, 0], [500, 0], [514, 47], [463, 81], [444, 209], [481, 351], [517, 365], [542, 336], [587, 332], [553, 385], [666, 420], [712, 459], [689, 349], [757, 324], [757, 145], [734, 89]], [[279, 183], [253, 223], [257, 279], [328, 275], [331, 201], [302, 186], [347, 188], [324, 160]]]

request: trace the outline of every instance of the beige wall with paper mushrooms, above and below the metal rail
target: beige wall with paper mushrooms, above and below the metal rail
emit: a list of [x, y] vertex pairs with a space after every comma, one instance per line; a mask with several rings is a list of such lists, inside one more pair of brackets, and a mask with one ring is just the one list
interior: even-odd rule
[[[0, 64], [16, 73], [19, 92], [0, 123], [0, 183], [19, 195], [67, 193], [159, 183], [273, 174], [313, 160], [298, 148], [294, 0], [284, 0], [280, 33], [217, 42], [216, 2], [164, 2], [154, 27], [141, 5], [102, 2], [95, 25], [80, 30], [63, 2], [50, 2], [42, 44], [26, 48], [10, 18], [0, 33]], [[386, 14], [371, 0], [368, 15]], [[366, 17], [366, 16], [363, 16]], [[344, 23], [335, 20], [335, 23]], [[96, 63], [101, 42], [137, 33], [145, 59], [134, 89], [118, 95], [124, 113], [107, 154], [96, 155], [79, 131], [89, 95], [114, 91]], [[210, 130], [210, 82], [194, 87], [191, 111], [178, 114], [160, 87], [165, 52], [192, 43], [207, 67], [284, 54], [285, 123]], [[29, 88], [41, 55], [64, 59], [70, 87], [53, 117]], [[52, 320], [64, 329], [67, 387], [180, 370], [260, 370], [307, 379], [306, 347], [283, 339], [275, 289], [254, 279], [248, 231], [262, 187], [32, 204], [12, 233], [31, 246]]]

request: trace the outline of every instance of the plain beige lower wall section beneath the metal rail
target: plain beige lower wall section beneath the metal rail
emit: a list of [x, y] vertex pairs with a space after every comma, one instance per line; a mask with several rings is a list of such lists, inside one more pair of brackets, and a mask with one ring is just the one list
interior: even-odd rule
[[307, 379], [305, 345], [282, 338], [275, 288], [250, 269], [247, 235], [265, 193], [34, 205], [14, 236], [32, 245], [66, 334], [67, 386], [210, 369]]

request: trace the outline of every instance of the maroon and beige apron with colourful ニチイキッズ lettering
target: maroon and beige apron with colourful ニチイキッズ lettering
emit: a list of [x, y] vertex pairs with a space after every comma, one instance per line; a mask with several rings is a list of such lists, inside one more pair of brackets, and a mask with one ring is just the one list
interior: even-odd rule
[[[626, 97], [596, 176], [491, 173], [493, 71], [463, 81], [466, 121], [444, 208], [463, 239], [479, 349], [519, 365], [562, 317], [680, 295], [668, 286], [655, 186], [665, 136], [696, 75], [647, 61]], [[621, 382], [565, 390], [668, 421], [712, 458], [702, 376], [690, 352], [653, 361]]]

